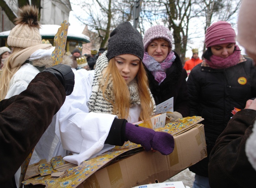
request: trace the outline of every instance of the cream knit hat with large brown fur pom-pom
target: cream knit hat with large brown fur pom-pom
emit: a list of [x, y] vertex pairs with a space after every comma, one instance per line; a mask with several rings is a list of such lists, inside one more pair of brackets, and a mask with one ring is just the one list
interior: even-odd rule
[[38, 9], [25, 5], [19, 9], [19, 17], [15, 20], [15, 27], [11, 30], [7, 44], [11, 47], [28, 48], [42, 44], [39, 33]]

